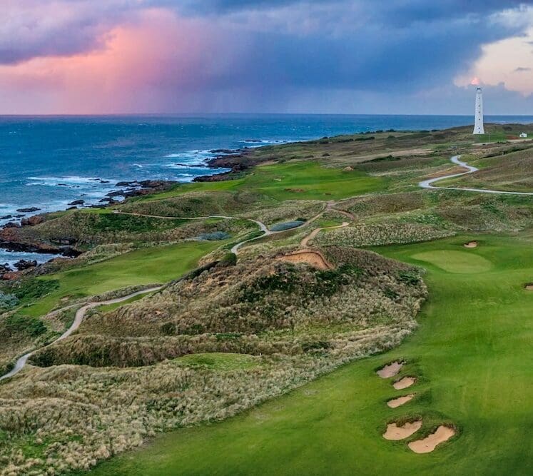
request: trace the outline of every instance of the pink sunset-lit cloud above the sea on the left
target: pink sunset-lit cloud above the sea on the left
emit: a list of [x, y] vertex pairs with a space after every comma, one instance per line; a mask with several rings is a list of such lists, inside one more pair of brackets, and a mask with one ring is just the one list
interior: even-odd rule
[[[86, 54], [49, 56], [0, 66], [0, 91], [15, 97], [54, 97], [51, 113], [161, 111], [220, 78], [235, 61], [223, 31], [200, 19], [181, 19], [163, 9], [101, 37], [103, 47]], [[26, 101], [19, 103], [24, 109]], [[31, 111], [39, 109], [32, 104]], [[10, 111], [24, 112], [24, 111]]]

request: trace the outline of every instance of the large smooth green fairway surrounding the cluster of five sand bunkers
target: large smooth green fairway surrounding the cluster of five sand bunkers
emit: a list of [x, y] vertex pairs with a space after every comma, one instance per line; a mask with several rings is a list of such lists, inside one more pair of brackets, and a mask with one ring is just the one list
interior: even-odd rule
[[[482, 236], [380, 247], [417, 265], [429, 253], [472, 253], [492, 263], [483, 273], [450, 273], [428, 265], [430, 298], [420, 328], [399, 348], [367, 358], [225, 422], [158, 437], [103, 463], [95, 475], [527, 475], [531, 474], [533, 280], [531, 236]], [[435, 251], [438, 253], [435, 254]], [[437, 256], [437, 258], [435, 258]], [[472, 260], [470, 260], [472, 262]], [[375, 375], [405, 358], [396, 391]], [[395, 410], [385, 402], [415, 391]], [[422, 434], [441, 422], [458, 435], [427, 455], [381, 437], [385, 423], [422, 416]], [[415, 437], [412, 437], [415, 439]]]

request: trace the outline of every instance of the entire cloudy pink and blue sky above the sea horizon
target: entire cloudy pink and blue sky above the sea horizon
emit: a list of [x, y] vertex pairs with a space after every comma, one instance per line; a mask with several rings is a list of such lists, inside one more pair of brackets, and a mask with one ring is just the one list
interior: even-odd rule
[[0, 114], [533, 115], [533, 1], [0, 0]]

